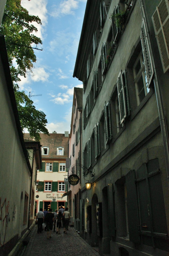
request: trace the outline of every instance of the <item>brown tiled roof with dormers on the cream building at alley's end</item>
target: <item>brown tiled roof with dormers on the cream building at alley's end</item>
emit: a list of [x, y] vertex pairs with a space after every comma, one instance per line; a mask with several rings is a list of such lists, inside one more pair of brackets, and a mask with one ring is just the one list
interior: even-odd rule
[[[62, 133], [49, 133], [50, 136], [44, 133], [40, 133], [40, 144], [42, 147], [49, 147], [49, 155], [42, 155], [43, 158], [67, 158], [68, 157], [68, 144], [69, 137], [65, 137]], [[24, 139], [27, 141], [32, 141], [33, 139], [30, 137], [29, 133], [25, 133]], [[64, 155], [57, 155], [57, 147], [64, 148]]]

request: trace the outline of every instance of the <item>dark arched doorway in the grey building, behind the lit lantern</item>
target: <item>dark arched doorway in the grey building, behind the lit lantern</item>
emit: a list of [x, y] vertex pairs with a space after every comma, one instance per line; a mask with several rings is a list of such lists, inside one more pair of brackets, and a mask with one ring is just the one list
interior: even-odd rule
[[96, 228], [96, 204], [98, 203], [97, 195], [94, 194], [92, 197], [92, 234], [91, 234], [91, 246], [98, 246], [98, 236], [97, 236], [97, 228]]

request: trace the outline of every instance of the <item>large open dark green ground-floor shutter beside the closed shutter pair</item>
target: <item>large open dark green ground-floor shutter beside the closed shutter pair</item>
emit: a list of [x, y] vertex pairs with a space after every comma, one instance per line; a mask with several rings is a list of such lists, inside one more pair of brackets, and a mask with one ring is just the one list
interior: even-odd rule
[[127, 189], [127, 211], [128, 211], [128, 225], [130, 241], [140, 243], [139, 235], [139, 214], [138, 214], [138, 200], [137, 190], [135, 184], [135, 170], [131, 170], [126, 175], [126, 189]]

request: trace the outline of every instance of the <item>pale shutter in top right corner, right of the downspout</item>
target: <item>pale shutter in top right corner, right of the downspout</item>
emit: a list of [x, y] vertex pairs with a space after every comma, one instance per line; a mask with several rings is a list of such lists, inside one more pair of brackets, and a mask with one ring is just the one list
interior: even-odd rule
[[152, 16], [164, 73], [169, 69], [169, 2], [162, 0]]

